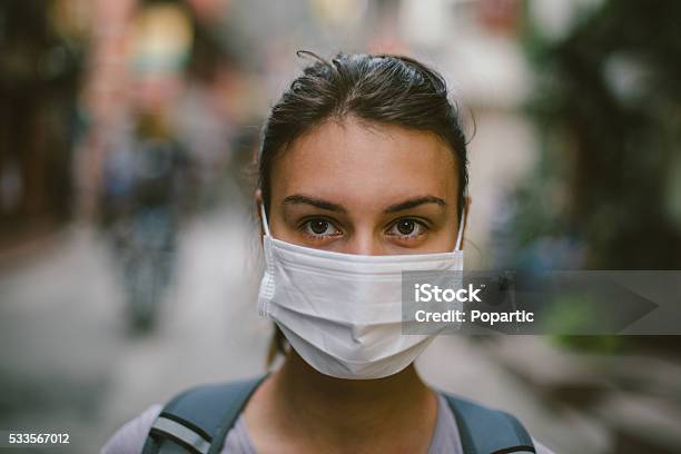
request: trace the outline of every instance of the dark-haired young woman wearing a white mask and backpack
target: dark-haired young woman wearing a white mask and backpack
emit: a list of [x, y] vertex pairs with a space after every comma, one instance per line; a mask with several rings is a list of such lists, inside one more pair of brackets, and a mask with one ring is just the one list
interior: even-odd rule
[[413, 361], [432, 336], [401, 332], [402, 270], [463, 267], [466, 142], [444, 79], [405, 57], [313, 57], [258, 159], [258, 305], [283, 366], [150, 407], [102, 452], [546, 453], [512, 416], [428, 387]]

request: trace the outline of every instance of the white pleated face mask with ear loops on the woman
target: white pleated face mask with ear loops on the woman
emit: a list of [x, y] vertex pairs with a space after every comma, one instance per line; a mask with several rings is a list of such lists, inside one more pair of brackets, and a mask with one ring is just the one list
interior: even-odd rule
[[402, 334], [402, 272], [463, 270], [463, 216], [452, 253], [364, 256], [273, 238], [261, 205], [260, 213], [266, 268], [259, 313], [315, 369], [382, 378], [407, 367], [433, 340], [434, 334]]

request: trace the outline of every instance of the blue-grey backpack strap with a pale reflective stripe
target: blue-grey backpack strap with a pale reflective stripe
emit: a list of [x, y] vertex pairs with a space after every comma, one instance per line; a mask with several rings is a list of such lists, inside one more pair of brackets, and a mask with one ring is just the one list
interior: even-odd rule
[[174, 397], [151, 425], [142, 454], [219, 453], [265, 377], [197, 386]]

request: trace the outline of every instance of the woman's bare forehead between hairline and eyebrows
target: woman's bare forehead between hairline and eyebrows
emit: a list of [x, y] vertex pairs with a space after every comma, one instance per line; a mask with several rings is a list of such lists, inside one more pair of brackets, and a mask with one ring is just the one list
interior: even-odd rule
[[302, 136], [272, 172], [274, 203], [306, 194], [359, 205], [414, 196], [455, 204], [456, 190], [455, 158], [435, 134], [352, 119]]

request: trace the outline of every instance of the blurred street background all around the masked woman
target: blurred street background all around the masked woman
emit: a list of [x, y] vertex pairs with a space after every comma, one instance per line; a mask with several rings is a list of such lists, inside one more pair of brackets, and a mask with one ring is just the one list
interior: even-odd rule
[[[677, 0], [3, 0], [0, 430], [92, 453], [265, 371], [250, 164], [299, 49], [443, 72], [467, 269], [681, 269], [680, 30]], [[680, 347], [442, 336], [418, 367], [556, 453], [679, 453]]]

